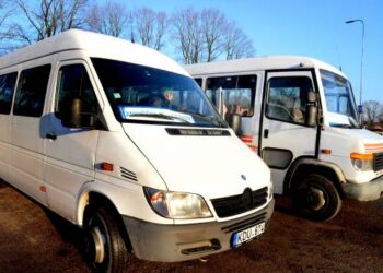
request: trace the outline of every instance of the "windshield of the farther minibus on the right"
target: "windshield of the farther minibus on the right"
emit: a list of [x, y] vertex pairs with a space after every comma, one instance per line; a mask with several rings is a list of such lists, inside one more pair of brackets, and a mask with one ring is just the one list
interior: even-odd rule
[[349, 81], [326, 70], [321, 70], [321, 78], [329, 114], [329, 124], [358, 128], [357, 107]]

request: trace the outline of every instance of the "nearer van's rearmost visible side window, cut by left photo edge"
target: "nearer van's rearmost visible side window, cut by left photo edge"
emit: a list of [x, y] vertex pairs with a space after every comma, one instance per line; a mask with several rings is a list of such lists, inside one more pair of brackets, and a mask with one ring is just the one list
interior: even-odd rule
[[0, 114], [10, 114], [18, 73], [0, 75]]

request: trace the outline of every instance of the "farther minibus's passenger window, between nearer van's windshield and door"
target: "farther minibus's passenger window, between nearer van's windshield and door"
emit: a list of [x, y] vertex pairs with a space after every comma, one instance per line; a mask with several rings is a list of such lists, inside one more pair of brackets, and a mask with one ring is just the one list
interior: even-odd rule
[[214, 103], [214, 94], [222, 88], [228, 114], [252, 117], [256, 75], [218, 76], [207, 79], [206, 94]]

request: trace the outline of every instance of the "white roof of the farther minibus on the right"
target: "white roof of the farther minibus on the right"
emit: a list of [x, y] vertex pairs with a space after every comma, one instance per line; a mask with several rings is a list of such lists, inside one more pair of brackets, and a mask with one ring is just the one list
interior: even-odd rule
[[185, 69], [194, 78], [197, 78], [209, 74], [241, 73], [259, 70], [312, 69], [316, 67], [346, 78], [341, 71], [328, 63], [313, 58], [299, 56], [269, 56], [229, 61], [214, 61], [185, 66]]

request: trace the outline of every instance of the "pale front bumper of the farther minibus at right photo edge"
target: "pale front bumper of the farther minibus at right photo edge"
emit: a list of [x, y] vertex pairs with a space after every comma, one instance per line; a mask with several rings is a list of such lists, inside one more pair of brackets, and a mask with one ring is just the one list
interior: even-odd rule
[[383, 195], [383, 176], [365, 183], [343, 183], [347, 198], [359, 201], [373, 201]]

